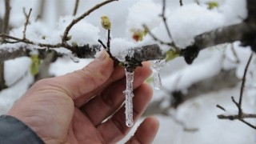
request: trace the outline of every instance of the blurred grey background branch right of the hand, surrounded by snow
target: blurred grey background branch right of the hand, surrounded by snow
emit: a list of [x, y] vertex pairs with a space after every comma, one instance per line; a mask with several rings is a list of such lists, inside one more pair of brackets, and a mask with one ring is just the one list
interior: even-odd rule
[[168, 114], [170, 108], [176, 109], [178, 106], [181, 106], [183, 102], [190, 101], [192, 98], [198, 98], [202, 94], [234, 87], [238, 82], [240, 82], [240, 80], [236, 77], [236, 70], [232, 69], [222, 70], [218, 75], [212, 78], [206, 78], [201, 82], [194, 83], [187, 89], [186, 94], [183, 94], [180, 90], [170, 91], [164, 88], [162, 90], [166, 92], [166, 97], [170, 97], [170, 106], [162, 108], [162, 102], [166, 101], [166, 99], [162, 98], [158, 101], [151, 102], [145, 114]]

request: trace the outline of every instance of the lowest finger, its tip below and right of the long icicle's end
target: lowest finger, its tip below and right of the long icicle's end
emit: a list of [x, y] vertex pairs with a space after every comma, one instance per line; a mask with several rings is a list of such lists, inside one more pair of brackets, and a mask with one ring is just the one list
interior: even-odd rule
[[136, 130], [133, 137], [129, 139], [126, 144], [134, 143], [152, 143], [156, 134], [158, 133], [159, 122], [157, 118], [150, 117], [146, 118], [138, 129]]

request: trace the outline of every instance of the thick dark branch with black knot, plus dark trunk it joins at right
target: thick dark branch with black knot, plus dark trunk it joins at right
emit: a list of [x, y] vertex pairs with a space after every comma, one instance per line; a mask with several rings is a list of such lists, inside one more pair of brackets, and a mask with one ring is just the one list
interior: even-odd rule
[[180, 55], [184, 56], [187, 63], [192, 63], [200, 50], [235, 41], [242, 42], [242, 46], [250, 46], [256, 52], [256, 2], [254, 0], [247, 0], [247, 10], [248, 16], [244, 22], [199, 34], [194, 38], [194, 44], [183, 49]]

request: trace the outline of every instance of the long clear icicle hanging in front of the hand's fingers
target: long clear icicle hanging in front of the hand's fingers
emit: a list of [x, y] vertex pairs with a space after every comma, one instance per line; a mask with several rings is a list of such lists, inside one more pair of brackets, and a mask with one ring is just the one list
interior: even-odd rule
[[133, 116], [133, 82], [134, 82], [134, 71], [129, 72], [126, 69], [126, 90], [123, 92], [126, 95], [126, 126], [131, 127], [134, 125]]

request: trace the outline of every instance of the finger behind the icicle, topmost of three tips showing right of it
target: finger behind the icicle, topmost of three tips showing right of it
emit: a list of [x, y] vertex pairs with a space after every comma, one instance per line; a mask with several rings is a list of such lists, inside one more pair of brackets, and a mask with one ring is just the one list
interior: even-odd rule
[[[150, 64], [144, 63], [142, 68], [135, 70], [134, 74], [134, 89], [142, 84], [151, 74]], [[114, 82], [102, 91], [100, 96], [97, 96], [87, 102], [85, 106], [82, 106], [82, 110], [94, 124], [97, 126], [104, 119], [118, 110], [125, 99], [123, 91], [126, 88], [126, 78], [122, 78], [118, 82]], [[135, 95], [136, 97], [137, 95]], [[97, 113], [97, 114], [95, 114]]]

